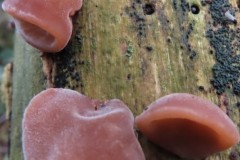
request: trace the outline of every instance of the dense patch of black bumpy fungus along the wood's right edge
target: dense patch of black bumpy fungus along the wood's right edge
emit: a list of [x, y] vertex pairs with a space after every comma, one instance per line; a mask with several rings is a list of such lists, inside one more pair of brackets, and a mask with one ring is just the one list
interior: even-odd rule
[[[209, 13], [214, 26], [206, 31], [210, 45], [213, 47], [216, 64], [213, 66], [211, 84], [216, 93], [221, 95], [226, 88], [232, 88], [233, 93], [240, 95], [240, 29], [230, 28], [229, 21], [224, 16], [226, 11], [235, 14], [234, 8], [227, 0], [212, 1]], [[211, 50], [213, 53], [213, 51]]]

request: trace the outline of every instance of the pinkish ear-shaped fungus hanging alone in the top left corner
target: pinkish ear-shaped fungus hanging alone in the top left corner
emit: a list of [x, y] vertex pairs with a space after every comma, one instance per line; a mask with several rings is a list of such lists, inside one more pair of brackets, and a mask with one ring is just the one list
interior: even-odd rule
[[44, 52], [58, 52], [72, 34], [70, 16], [82, 0], [5, 0], [4, 11], [12, 15], [20, 35]]

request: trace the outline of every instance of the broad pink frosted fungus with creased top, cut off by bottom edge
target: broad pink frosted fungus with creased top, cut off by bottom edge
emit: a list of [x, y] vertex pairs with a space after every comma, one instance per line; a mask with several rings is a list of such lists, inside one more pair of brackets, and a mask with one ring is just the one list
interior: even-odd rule
[[69, 89], [48, 89], [25, 110], [26, 160], [144, 160], [134, 117], [120, 100], [106, 103]]

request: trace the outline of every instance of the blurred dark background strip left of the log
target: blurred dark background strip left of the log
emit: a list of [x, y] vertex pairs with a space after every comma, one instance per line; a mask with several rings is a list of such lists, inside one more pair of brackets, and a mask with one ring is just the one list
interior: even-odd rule
[[[0, 5], [3, 0], [0, 0]], [[0, 7], [0, 84], [3, 81], [3, 71], [6, 64], [12, 61], [13, 57], [13, 35], [14, 26], [10, 17]], [[9, 120], [5, 116], [5, 106], [0, 92], [0, 160], [8, 159], [9, 148]]]

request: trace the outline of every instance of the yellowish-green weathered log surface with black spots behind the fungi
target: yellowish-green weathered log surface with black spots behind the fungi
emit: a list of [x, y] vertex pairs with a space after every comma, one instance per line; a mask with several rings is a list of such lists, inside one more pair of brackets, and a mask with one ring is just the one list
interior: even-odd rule
[[[237, 8], [236, 0], [222, 0], [221, 4]], [[11, 159], [22, 156], [24, 108], [34, 94], [46, 87], [71, 88], [99, 99], [119, 98], [134, 115], [161, 96], [187, 92], [212, 100], [239, 125], [238, 83], [224, 81], [229, 76], [238, 79], [239, 73], [218, 70], [222, 67], [218, 65], [222, 64], [219, 56], [224, 55], [218, 54], [211, 36], [224, 25], [229, 27], [223, 33], [237, 35], [238, 25], [219, 14], [220, 20], [222, 16], [226, 22], [220, 25], [218, 17], [211, 17], [217, 11], [210, 7], [214, 6], [207, 0], [202, 4], [199, 0], [85, 0], [82, 10], [73, 17], [75, 29], [68, 46], [61, 53], [44, 54], [43, 63], [38, 51], [17, 37]], [[195, 9], [200, 12], [193, 14]], [[237, 55], [238, 48], [234, 47], [238, 44], [231, 43], [231, 36], [224, 37]], [[238, 66], [239, 62], [229, 65]], [[227, 77], [219, 77], [217, 71]], [[141, 134], [139, 140], [148, 160], [179, 159]], [[237, 160], [238, 151], [239, 146], [206, 159]]]

